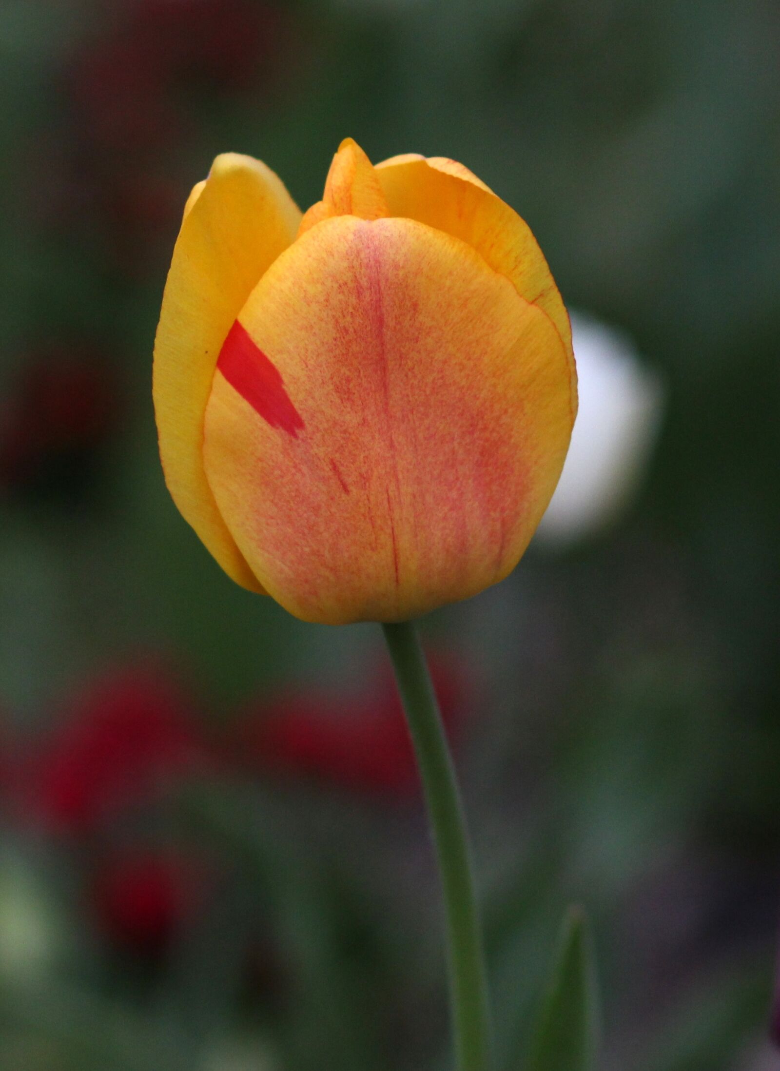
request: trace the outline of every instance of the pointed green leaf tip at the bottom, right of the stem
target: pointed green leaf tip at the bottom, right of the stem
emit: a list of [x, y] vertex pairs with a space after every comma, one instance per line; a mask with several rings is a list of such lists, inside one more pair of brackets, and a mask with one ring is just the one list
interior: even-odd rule
[[587, 920], [569, 909], [530, 1044], [527, 1071], [592, 1071], [598, 1047], [596, 970]]

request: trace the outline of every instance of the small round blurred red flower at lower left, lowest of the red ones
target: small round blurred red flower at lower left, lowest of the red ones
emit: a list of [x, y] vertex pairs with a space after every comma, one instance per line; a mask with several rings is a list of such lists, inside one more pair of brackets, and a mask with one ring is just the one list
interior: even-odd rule
[[102, 864], [89, 906], [112, 942], [154, 959], [194, 917], [207, 889], [207, 871], [192, 858], [136, 849]]

